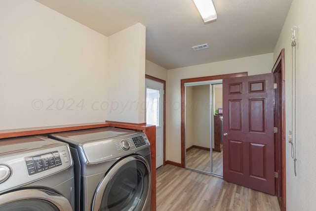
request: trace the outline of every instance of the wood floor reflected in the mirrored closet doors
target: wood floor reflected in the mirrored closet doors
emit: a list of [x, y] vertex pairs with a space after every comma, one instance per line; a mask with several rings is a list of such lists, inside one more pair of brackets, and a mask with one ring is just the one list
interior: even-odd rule
[[[213, 173], [223, 175], [223, 151], [212, 152], [213, 155]], [[187, 151], [186, 167], [210, 172], [210, 151], [192, 148]]]

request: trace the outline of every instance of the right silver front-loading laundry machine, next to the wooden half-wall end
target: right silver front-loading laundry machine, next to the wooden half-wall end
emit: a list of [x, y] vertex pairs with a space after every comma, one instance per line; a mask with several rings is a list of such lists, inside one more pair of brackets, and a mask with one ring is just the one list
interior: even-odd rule
[[70, 145], [80, 211], [150, 210], [151, 154], [145, 133], [105, 127], [48, 137]]

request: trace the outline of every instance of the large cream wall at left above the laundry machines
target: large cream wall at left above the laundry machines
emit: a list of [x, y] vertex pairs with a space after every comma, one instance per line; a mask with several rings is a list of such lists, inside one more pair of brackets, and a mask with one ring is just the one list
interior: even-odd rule
[[0, 28], [0, 129], [106, 119], [107, 37], [34, 0], [1, 0]]

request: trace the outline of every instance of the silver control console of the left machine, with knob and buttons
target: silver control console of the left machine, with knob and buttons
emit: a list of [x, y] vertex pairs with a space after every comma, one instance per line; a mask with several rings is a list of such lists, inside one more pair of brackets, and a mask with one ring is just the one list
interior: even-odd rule
[[[18, 146], [20, 151], [0, 156], [0, 194], [51, 176], [73, 165], [69, 145], [45, 139], [49, 145], [24, 150], [25, 143]], [[36, 145], [36, 142], [29, 143]]]

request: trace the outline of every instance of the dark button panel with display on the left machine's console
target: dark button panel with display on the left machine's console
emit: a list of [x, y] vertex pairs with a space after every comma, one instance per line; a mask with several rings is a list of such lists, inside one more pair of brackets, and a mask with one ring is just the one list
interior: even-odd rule
[[24, 160], [29, 176], [62, 165], [58, 151], [53, 151], [51, 153], [41, 154], [33, 157], [26, 157]]

